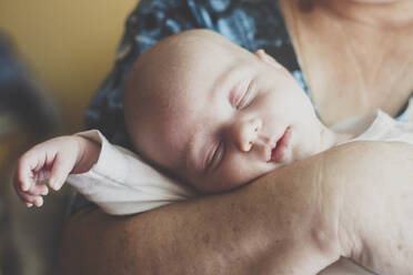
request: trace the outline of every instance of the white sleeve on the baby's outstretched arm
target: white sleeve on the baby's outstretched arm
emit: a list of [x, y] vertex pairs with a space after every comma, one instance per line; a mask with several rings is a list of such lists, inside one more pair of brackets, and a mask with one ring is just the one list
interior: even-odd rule
[[145, 212], [189, 200], [195, 192], [153, 169], [133, 152], [113, 145], [97, 130], [78, 133], [101, 145], [98, 162], [68, 183], [111, 215]]

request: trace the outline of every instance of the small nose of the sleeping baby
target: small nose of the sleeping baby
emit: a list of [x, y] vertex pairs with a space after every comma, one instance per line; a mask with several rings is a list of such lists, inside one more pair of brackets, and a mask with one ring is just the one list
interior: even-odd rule
[[259, 132], [261, 130], [261, 120], [252, 119], [234, 123], [233, 125], [233, 139], [235, 145], [242, 152], [250, 152], [253, 144], [255, 143]]

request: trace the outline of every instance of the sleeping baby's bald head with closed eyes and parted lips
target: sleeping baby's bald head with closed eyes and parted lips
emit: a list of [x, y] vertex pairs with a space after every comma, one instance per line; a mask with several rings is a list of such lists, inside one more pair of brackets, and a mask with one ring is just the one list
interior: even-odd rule
[[161, 54], [140, 72], [157, 75], [140, 86], [151, 91], [138, 105], [125, 103], [137, 108], [127, 121], [138, 151], [204, 193], [320, 152], [325, 130], [285, 69], [221, 40]]

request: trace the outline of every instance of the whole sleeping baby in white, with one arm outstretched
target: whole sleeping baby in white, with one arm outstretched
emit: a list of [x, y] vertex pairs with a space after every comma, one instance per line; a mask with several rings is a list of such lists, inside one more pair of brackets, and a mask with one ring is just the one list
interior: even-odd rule
[[240, 187], [339, 143], [413, 141], [412, 123], [381, 111], [325, 126], [272, 57], [206, 30], [172, 35], [138, 59], [124, 118], [139, 156], [98, 131], [46, 141], [19, 160], [20, 197], [41, 206], [48, 186], [39, 181], [59, 190], [71, 174], [69, 183], [105, 212], [132, 214]]

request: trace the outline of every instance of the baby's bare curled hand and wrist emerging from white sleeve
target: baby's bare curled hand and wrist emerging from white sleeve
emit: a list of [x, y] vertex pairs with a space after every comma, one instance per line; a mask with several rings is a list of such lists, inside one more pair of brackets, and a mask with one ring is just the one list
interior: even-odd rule
[[89, 171], [99, 157], [100, 146], [79, 135], [59, 136], [40, 143], [18, 161], [14, 187], [21, 200], [31, 207], [43, 204], [49, 190], [58, 191], [69, 174]]

